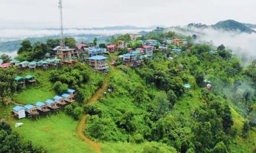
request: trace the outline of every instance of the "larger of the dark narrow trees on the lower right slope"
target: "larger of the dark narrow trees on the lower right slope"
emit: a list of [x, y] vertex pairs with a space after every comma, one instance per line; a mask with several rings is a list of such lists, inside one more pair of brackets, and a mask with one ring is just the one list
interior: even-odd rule
[[232, 120], [231, 110], [228, 105], [225, 105], [223, 113], [224, 113], [222, 116], [223, 128], [224, 128], [225, 133], [228, 133], [228, 130], [234, 124], [234, 121]]

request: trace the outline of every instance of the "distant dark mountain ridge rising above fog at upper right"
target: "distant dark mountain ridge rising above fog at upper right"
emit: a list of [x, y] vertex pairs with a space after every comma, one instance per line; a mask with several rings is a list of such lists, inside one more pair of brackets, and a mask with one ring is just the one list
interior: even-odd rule
[[253, 28], [256, 28], [254, 24], [243, 24], [241, 22], [237, 22], [236, 20], [223, 20], [217, 22], [214, 25], [206, 25], [206, 24], [188, 24], [188, 27], [196, 27], [196, 28], [207, 28], [212, 27], [214, 29], [222, 29], [225, 31], [240, 31], [241, 33], [256, 33]]

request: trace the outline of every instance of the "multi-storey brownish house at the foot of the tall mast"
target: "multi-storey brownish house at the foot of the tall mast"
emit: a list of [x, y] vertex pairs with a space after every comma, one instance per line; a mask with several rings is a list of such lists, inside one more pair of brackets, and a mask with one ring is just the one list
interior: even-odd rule
[[68, 47], [58, 47], [54, 48], [57, 50], [58, 58], [61, 59], [61, 62], [72, 64], [74, 62], [77, 62], [76, 54], [74, 54], [75, 49], [71, 49]]

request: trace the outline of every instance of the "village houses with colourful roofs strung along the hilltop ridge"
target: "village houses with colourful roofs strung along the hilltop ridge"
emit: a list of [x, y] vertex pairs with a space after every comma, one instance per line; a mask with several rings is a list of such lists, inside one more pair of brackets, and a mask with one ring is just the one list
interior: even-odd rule
[[[131, 34], [132, 41], [135, 41], [138, 37], [141, 37], [140, 34]], [[114, 53], [116, 50], [120, 50], [122, 48], [127, 48], [128, 52], [124, 55], [120, 55], [119, 59], [123, 61], [123, 64], [127, 66], [136, 67], [141, 66], [143, 64], [143, 59], [147, 57], [148, 59], [153, 58], [153, 52], [158, 48], [158, 50], [166, 52], [168, 47], [166, 44], [171, 43], [175, 45], [175, 48], [172, 49], [172, 52], [175, 54], [181, 51], [181, 46], [188, 44], [186, 39], [173, 38], [170, 40], [164, 41], [163, 44], [159, 43], [157, 40], [141, 40], [141, 44], [143, 45], [140, 48], [127, 48], [127, 42], [119, 40], [116, 44], [106, 44], [106, 48], [94, 47], [92, 44], [79, 43], [76, 45], [76, 48], [68, 48], [68, 47], [56, 47], [53, 50], [56, 51], [56, 57], [51, 59], [45, 59], [44, 61], [17, 61], [13, 60], [9, 63], [0, 64], [0, 68], [8, 68], [10, 66], [16, 66], [17, 68], [48, 68], [59, 66], [61, 64], [74, 64], [79, 61], [78, 57], [84, 57], [85, 61], [89, 63], [89, 65], [97, 70], [102, 72], [108, 72], [108, 57], [104, 56], [109, 53]], [[165, 45], [164, 45], [165, 44]], [[45, 57], [50, 57], [50, 55], [46, 55]]]

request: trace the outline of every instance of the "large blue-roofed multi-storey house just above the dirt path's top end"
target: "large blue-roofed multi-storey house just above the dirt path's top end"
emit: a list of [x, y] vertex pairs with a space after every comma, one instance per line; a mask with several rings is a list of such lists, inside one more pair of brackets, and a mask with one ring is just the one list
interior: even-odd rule
[[95, 70], [99, 70], [102, 72], [106, 72], [109, 70], [108, 63], [107, 63], [108, 57], [104, 57], [102, 55], [96, 55], [93, 57], [88, 57], [87, 60], [89, 62], [89, 65], [92, 66], [92, 68]]

